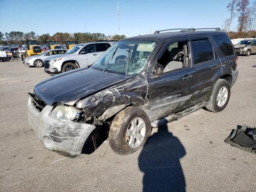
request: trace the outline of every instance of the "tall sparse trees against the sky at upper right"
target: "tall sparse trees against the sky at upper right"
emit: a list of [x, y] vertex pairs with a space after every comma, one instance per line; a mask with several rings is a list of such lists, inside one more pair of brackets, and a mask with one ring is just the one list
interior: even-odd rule
[[[253, 38], [256, 36], [256, 1], [250, 6], [249, 0], [231, 0], [227, 5], [230, 17], [223, 22], [223, 30], [231, 39]], [[237, 17], [237, 32], [230, 31], [230, 25]]]

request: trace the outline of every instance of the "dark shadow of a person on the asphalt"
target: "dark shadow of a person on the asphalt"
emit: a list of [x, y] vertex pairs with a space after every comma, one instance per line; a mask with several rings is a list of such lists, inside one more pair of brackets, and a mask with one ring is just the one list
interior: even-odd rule
[[167, 125], [150, 136], [139, 156], [144, 172], [143, 192], [185, 192], [186, 182], [180, 158], [186, 151], [180, 140], [168, 131]]

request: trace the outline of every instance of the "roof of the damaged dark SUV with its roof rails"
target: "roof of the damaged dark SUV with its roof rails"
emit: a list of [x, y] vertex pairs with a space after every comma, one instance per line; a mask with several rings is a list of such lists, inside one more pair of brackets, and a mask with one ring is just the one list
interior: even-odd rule
[[226, 34], [222, 31], [179, 31], [179, 32], [163, 32], [163, 33], [154, 33], [154, 34], [147, 34], [147, 35], [140, 35], [134, 36], [130, 38], [126, 38], [125, 40], [166, 40], [170, 38], [176, 37], [188, 37], [193, 35], [206, 35], [206, 34]]

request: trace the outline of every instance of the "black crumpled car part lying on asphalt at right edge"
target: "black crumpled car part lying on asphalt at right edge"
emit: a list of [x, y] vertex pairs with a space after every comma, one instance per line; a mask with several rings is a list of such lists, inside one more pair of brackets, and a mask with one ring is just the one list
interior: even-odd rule
[[232, 129], [232, 132], [225, 142], [233, 147], [256, 154], [256, 128], [248, 125], [238, 126]]

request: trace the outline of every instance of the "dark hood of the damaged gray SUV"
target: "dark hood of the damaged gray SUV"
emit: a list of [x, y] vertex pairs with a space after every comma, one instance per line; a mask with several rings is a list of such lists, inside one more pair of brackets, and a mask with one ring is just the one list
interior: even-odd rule
[[50, 77], [38, 83], [33, 94], [51, 106], [54, 102], [72, 106], [81, 98], [130, 78], [132, 76], [108, 74], [91, 68], [81, 68]]

